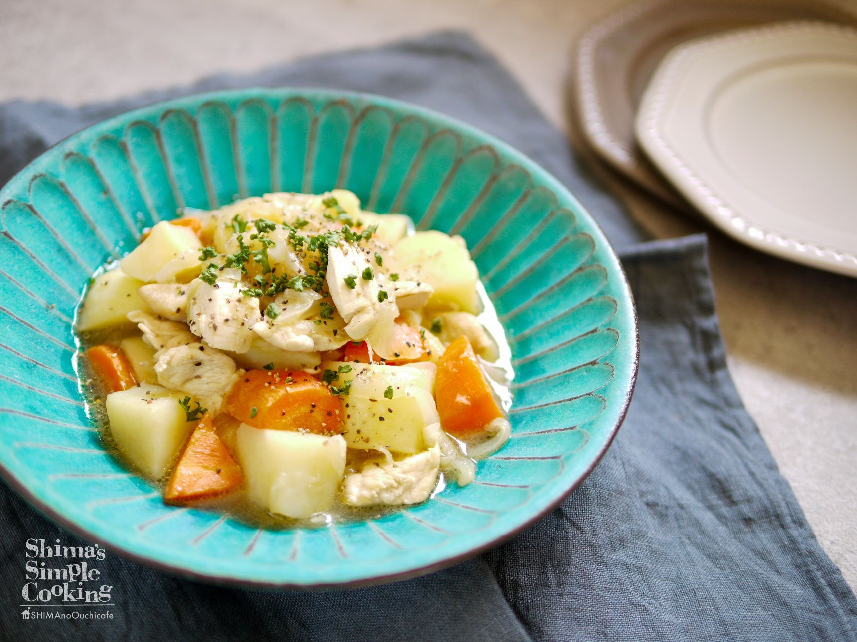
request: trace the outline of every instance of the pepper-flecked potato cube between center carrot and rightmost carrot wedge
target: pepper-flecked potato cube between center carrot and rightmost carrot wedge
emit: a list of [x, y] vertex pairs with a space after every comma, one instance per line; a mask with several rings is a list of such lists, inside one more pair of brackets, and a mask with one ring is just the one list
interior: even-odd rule
[[424, 450], [423, 428], [440, 421], [434, 397], [411, 383], [417, 369], [400, 366], [397, 376], [375, 370], [378, 367], [396, 368], [369, 366], [371, 370], [363, 368], [351, 381], [345, 397], [344, 437], [348, 447], [387, 449], [405, 455]]

